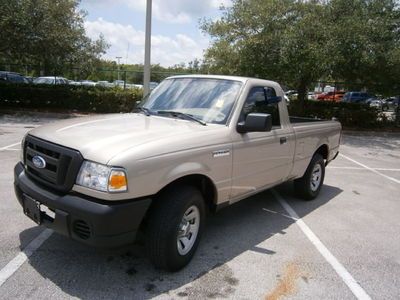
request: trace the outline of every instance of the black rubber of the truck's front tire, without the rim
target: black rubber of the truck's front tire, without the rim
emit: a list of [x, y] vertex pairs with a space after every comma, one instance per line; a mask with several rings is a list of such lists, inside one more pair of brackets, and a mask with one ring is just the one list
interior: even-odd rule
[[[191, 186], [174, 187], [155, 199], [146, 230], [146, 250], [158, 269], [178, 271], [192, 259], [204, 229], [205, 205], [202, 194]], [[199, 229], [188, 253], [178, 250], [178, 234], [184, 213], [192, 206], [199, 212]], [[188, 248], [189, 249], [189, 248]]]

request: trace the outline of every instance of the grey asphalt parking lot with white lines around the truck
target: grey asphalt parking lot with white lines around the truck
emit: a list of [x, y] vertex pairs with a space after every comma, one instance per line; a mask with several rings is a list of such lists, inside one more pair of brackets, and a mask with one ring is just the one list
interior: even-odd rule
[[400, 299], [400, 135], [344, 135], [316, 200], [283, 184], [232, 205], [165, 273], [140, 245], [96, 250], [23, 215], [19, 143], [55, 119], [0, 116], [1, 299]]

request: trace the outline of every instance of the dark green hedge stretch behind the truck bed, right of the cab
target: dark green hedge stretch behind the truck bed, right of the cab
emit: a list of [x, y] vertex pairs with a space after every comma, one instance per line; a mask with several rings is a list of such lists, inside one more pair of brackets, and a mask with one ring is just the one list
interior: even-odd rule
[[366, 104], [328, 101], [291, 101], [289, 114], [299, 117], [332, 119], [336, 118], [344, 128], [377, 129], [394, 127], [394, 122], [374, 107]]

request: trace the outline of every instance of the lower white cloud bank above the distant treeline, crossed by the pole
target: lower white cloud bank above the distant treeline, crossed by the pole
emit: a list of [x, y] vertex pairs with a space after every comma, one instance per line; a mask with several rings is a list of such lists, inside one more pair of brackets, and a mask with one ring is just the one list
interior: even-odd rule
[[[86, 21], [87, 35], [96, 39], [103, 34], [111, 45], [106, 59], [115, 60], [122, 56], [121, 63], [143, 63], [144, 60], [144, 31], [137, 30], [131, 25], [122, 25], [99, 18], [95, 21]], [[181, 62], [189, 62], [195, 58], [201, 59], [204, 49], [208, 46], [207, 38], [194, 40], [185, 34], [173, 36], [153, 35], [151, 38], [151, 62], [162, 66], [172, 66]], [[128, 59], [126, 60], [129, 45]]]

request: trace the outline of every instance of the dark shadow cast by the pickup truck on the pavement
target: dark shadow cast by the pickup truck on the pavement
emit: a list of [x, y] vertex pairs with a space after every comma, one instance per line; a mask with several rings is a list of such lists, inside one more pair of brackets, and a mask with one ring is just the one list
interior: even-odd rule
[[[291, 184], [283, 184], [276, 190], [300, 217], [342, 192], [325, 185], [316, 200], [305, 202], [294, 198]], [[275, 234], [285, 234], [285, 229], [293, 223], [272, 193], [266, 191], [211, 215], [192, 262], [177, 273], [154, 269], [140, 245], [103, 251], [55, 233], [29, 258], [29, 264], [43, 277], [36, 279], [35, 284], [44, 298], [46, 279], [64, 293], [81, 299], [148, 299], [161, 294], [168, 299], [224, 298], [232, 295], [239, 284], [225, 263], [246, 251], [262, 253], [264, 259], [271, 259], [276, 252], [259, 244], [268, 244]], [[26, 244], [27, 236], [32, 236], [27, 233], [32, 230], [37, 229], [30, 228], [20, 234], [21, 245]]]

